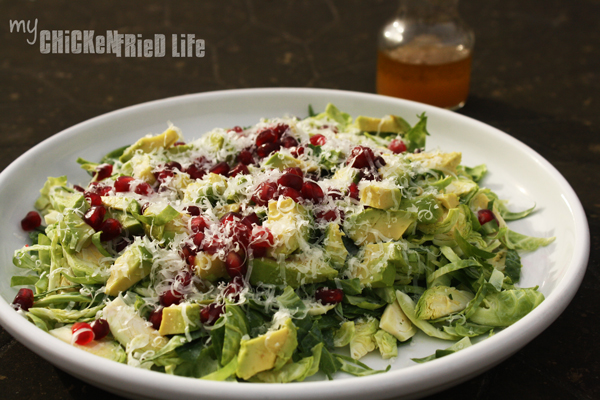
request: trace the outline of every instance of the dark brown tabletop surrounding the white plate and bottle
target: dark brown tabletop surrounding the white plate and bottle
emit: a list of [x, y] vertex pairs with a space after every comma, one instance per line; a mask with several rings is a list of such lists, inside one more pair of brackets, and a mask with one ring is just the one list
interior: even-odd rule
[[[186, 93], [245, 87], [374, 92], [376, 36], [397, 1], [0, 1], [0, 170], [91, 117]], [[600, 1], [463, 0], [476, 35], [460, 113], [538, 151], [588, 216], [588, 271], [562, 316], [515, 356], [432, 399], [597, 399], [600, 250]], [[193, 33], [204, 58], [40, 54], [10, 19], [41, 29]], [[169, 42], [169, 40], [167, 40]], [[99, 138], [99, 140], [101, 140]], [[112, 396], [54, 368], [0, 328], [0, 397]]]

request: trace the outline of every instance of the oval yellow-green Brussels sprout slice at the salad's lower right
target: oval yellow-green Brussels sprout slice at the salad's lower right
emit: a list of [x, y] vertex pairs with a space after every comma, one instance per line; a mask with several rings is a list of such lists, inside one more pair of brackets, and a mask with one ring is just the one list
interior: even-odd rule
[[465, 309], [473, 294], [448, 286], [434, 286], [421, 295], [415, 308], [419, 319], [437, 319]]

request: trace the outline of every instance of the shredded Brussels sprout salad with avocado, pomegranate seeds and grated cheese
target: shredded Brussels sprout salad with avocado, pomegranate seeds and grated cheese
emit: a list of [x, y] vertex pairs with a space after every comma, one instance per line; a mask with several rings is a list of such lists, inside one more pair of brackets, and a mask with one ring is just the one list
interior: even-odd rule
[[485, 165], [425, 151], [425, 115], [309, 114], [188, 143], [170, 126], [78, 159], [84, 186], [48, 178], [13, 306], [117, 362], [284, 383], [384, 372], [360, 359], [418, 332], [455, 343], [414, 361], [442, 357], [544, 300], [515, 286], [519, 251], [554, 238], [509, 229], [533, 208], [480, 186]]

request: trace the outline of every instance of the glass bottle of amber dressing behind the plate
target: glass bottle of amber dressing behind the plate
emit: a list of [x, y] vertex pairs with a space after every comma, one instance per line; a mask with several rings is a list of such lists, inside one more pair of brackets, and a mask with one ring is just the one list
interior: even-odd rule
[[474, 40], [458, 15], [458, 0], [401, 0], [379, 34], [377, 93], [461, 108]]

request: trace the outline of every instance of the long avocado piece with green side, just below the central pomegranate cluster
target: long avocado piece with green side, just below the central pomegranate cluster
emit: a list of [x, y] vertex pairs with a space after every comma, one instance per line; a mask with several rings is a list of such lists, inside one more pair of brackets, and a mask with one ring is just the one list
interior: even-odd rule
[[323, 257], [294, 255], [281, 264], [271, 258], [255, 258], [252, 262], [250, 283], [297, 288], [303, 284], [324, 282], [333, 279], [338, 272], [331, 268]]

